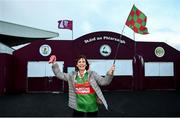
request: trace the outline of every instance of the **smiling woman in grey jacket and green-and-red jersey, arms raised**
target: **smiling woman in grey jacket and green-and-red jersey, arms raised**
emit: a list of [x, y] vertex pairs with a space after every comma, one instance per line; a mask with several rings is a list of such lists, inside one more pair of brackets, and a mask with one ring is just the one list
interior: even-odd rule
[[97, 116], [98, 103], [108, 105], [102, 94], [99, 85], [110, 84], [113, 78], [115, 65], [107, 72], [105, 77], [101, 77], [94, 71], [89, 70], [89, 63], [84, 55], [80, 55], [75, 61], [75, 71], [63, 73], [56, 62], [56, 56], [50, 57], [52, 69], [57, 78], [68, 81], [69, 86], [69, 107], [73, 109], [73, 116]]

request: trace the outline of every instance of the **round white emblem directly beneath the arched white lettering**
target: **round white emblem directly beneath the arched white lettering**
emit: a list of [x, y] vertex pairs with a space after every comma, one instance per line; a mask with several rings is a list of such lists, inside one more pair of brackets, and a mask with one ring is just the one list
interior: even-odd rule
[[102, 56], [106, 57], [106, 56], [109, 56], [111, 54], [111, 47], [107, 44], [104, 44], [100, 47], [99, 51], [100, 51], [100, 54]]

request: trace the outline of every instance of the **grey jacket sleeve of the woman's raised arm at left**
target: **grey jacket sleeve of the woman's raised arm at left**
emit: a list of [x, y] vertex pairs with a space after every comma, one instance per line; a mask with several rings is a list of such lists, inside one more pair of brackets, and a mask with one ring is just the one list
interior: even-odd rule
[[59, 65], [57, 63], [52, 65], [52, 70], [54, 72], [54, 75], [58, 78], [58, 79], [62, 79], [65, 81], [68, 81], [68, 79], [70, 78], [70, 74], [68, 73], [63, 73], [60, 68]]

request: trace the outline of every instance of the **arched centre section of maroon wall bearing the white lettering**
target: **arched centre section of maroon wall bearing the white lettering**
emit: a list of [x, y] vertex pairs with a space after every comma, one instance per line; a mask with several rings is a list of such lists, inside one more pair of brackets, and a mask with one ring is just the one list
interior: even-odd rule
[[[102, 39], [98, 40], [97, 37]], [[81, 36], [73, 42], [73, 48], [75, 51], [74, 54], [84, 54], [90, 59], [114, 59], [119, 42], [115, 41], [114, 39], [107, 39], [106, 37], [119, 39], [120, 34], [114, 32], [95, 32]], [[95, 41], [85, 43], [85, 40], [93, 38], [95, 38]], [[117, 59], [132, 59], [134, 56], [134, 49], [132, 48], [134, 47], [134, 41], [125, 36], [122, 36], [121, 40], [122, 43], [119, 45]], [[99, 47], [103, 44], [108, 44], [111, 46], [112, 53], [107, 57], [104, 57], [99, 53]]]

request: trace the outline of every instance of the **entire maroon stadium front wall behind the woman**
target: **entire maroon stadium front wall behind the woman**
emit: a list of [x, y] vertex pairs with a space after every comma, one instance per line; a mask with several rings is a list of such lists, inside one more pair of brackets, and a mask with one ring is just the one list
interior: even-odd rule
[[[108, 37], [111, 37], [108, 39]], [[49, 56], [43, 57], [39, 53], [39, 47], [48, 44], [52, 48], [52, 53], [57, 56], [58, 61], [64, 61], [64, 72], [67, 67], [74, 66], [77, 55], [84, 54], [88, 59], [114, 59], [120, 34], [114, 32], [94, 32], [77, 38], [76, 40], [39, 40], [14, 52], [16, 66], [15, 88], [19, 91], [28, 89], [34, 91], [57, 90], [64, 88], [68, 90], [67, 82], [53, 80], [52, 85], [47, 85], [48, 78], [27, 79], [28, 61], [48, 61]], [[104, 57], [99, 53], [102, 44], [111, 46], [112, 53]], [[134, 47], [136, 45], [136, 48]], [[158, 58], [154, 54], [154, 49], [161, 46], [165, 49], [165, 55]], [[117, 59], [133, 60], [133, 76], [115, 76], [112, 83], [104, 90], [146, 90], [146, 89], [176, 89], [180, 88], [180, 53], [169, 45], [162, 42], [135, 42], [126, 36], [120, 40]], [[174, 62], [174, 77], [144, 77], [144, 62]], [[28, 80], [28, 82], [27, 82]], [[56, 82], [60, 82], [56, 85]], [[28, 85], [27, 85], [28, 83]], [[46, 85], [46, 86], [44, 86]]]

